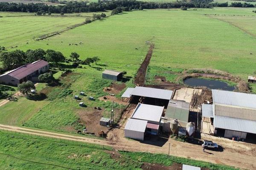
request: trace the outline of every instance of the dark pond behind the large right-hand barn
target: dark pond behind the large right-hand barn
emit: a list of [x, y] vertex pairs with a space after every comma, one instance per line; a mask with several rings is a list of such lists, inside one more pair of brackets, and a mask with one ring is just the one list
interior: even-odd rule
[[184, 83], [189, 86], [205, 86], [210, 89], [221, 89], [226, 91], [235, 90], [234, 86], [229, 86], [226, 82], [218, 80], [200, 79], [200, 78], [187, 78]]

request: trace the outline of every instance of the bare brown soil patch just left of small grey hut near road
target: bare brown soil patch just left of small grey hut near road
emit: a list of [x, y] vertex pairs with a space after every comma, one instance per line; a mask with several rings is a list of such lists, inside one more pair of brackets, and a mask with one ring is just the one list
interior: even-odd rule
[[95, 133], [98, 136], [98, 133], [102, 130], [105, 133], [108, 131], [108, 127], [99, 125], [99, 120], [102, 118], [102, 110], [97, 110], [94, 108], [84, 109], [81, 108], [77, 111], [80, 121], [85, 124], [87, 132]]

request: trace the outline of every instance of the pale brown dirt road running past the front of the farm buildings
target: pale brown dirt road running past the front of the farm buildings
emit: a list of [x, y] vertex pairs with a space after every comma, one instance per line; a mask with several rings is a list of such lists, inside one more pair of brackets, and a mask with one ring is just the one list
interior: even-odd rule
[[[189, 159], [196, 159], [201, 161], [208, 161], [218, 164], [226, 164], [230, 166], [240, 167], [241, 169], [256, 169], [256, 146], [253, 144], [247, 144], [243, 142], [234, 142], [227, 139], [212, 139], [214, 142], [218, 142], [224, 147], [223, 152], [206, 150], [203, 153], [200, 145], [189, 144], [185, 142], [178, 142], [174, 139], [159, 140], [151, 139], [151, 142], [139, 142], [135, 140], [128, 140], [125, 138], [118, 141], [112, 141], [110, 139], [100, 140], [92, 139], [83, 136], [73, 136], [61, 133], [52, 133], [42, 130], [33, 130], [23, 127], [14, 127], [8, 125], [0, 125], [0, 129], [11, 130], [19, 133], [27, 133], [31, 135], [47, 136], [57, 139], [67, 139], [79, 142], [88, 142], [94, 144], [102, 144], [113, 147], [114, 149], [124, 149], [129, 151], [143, 151], [151, 153], [168, 153], [169, 143], [171, 146], [170, 154], [174, 156], [181, 156]], [[114, 129], [117, 133], [123, 134], [123, 127], [121, 129]], [[202, 136], [206, 137], [207, 136]]]

